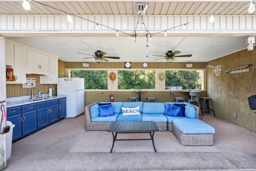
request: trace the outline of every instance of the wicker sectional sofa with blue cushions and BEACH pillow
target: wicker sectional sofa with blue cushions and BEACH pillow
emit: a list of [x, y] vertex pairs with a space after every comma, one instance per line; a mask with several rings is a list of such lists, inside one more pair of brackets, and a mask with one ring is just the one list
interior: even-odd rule
[[[183, 111], [184, 116], [166, 114], [167, 108], [169, 109], [173, 104], [186, 106]], [[136, 108], [138, 106], [139, 108]], [[172, 110], [171, 108], [168, 112]], [[108, 116], [109, 111], [110, 116]], [[174, 119], [198, 118], [198, 106], [186, 102], [94, 102], [85, 107], [86, 130], [107, 130], [114, 121], [155, 121], [159, 131], [172, 131]]]

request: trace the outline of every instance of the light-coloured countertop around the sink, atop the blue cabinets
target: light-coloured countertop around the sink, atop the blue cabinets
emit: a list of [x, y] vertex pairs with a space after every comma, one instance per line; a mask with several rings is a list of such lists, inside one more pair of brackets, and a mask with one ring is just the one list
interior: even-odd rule
[[51, 97], [40, 98], [40, 100], [33, 100], [33, 101], [30, 101], [31, 96], [12, 97], [12, 98], [6, 99], [6, 106], [7, 106], [7, 108], [10, 108], [10, 107], [15, 107], [15, 106], [21, 106], [24, 104], [44, 102], [47, 100], [53, 100], [53, 99], [58, 99], [58, 98], [63, 98], [63, 97], [66, 97], [66, 96], [51, 96]]

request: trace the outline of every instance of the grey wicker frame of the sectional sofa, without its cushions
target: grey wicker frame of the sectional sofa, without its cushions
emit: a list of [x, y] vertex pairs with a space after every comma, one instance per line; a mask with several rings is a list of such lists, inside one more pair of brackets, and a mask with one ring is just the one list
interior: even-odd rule
[[[84, 115], [85, 115], [85, 130], [108, 130], [108, 127], [112, 122], [92, 122], [91, 114], [90, 114], [90, 107], [94, 104], [98, 104], [100, 102], [94, 102], [85, 106], [84, 108]], [[192, 104], [193, 105], [193, 104]], [[198, 106], [193, 105], [196, 108], [196, 118], [199, 118], [199, 108]], [[172, 131], [172, 125], [168, 122], [156, 122], [159, 131]], [[170, 128], [169, 128], [170, 127]]]

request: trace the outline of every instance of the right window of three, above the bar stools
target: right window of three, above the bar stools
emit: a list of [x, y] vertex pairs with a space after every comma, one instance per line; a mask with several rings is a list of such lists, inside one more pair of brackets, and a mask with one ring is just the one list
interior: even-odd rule
[[165, 71], [165, 89], [203, 89], [203, 71], [202, 70], [177, 70]]

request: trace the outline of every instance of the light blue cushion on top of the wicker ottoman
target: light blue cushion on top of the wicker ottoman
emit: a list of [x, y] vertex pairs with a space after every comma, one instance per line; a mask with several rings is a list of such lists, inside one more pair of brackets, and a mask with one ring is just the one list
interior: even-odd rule
[[173, 124], [183, 134], [215, 134], [215, 129], [199, 119], [174, 119]]

